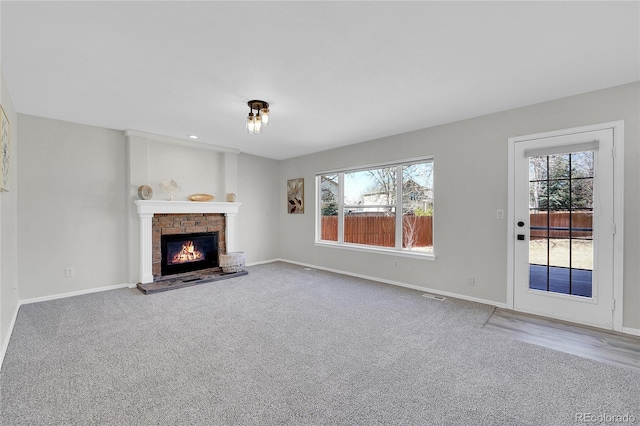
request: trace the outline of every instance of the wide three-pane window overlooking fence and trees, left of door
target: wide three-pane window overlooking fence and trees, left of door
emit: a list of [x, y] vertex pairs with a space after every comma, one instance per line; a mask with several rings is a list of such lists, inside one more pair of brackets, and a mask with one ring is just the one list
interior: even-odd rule
[[318, 242], [433, 254], [433, 160], [317, 175]]

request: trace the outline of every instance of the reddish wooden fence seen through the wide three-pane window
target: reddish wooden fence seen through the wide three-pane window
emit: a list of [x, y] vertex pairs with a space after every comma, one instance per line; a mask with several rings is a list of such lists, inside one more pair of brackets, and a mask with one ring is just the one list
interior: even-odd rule
[[[338, 240], [338, 216], [322, 216], [322, 239]], [[433, 216], [405, 216], [402, 246], [429, 247], [433, 245]], [[394, 247], [396, 220], [393, 216], [345, 216], [346, 243]]]

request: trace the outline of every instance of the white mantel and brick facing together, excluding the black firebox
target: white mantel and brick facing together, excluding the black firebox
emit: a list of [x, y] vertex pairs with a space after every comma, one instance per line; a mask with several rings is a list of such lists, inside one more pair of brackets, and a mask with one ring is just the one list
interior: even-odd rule
[[136, 200], [140, 218], [140, 283], [162, 275], [162, 235], [217, 232], [218, 253], [235, 250], [240, 203]]

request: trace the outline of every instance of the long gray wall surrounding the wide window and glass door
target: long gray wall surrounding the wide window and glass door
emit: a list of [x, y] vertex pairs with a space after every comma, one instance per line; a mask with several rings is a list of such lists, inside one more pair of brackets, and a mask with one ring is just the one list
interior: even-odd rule
[[[280, 186], [304, 177], [306, 213], [279, 210], [280, 229], [289, 236], [281, 257], [506, 303], [507, 221], [496, 219], [496, 210], [508, 208], [508, 138], [624, 120], [624, 326], [640, 329], [639, 94], [640, 83], [628, 84], [285, 160]], [[435, 261], [398, 258], [394, 268], [391, 255], [314, 245], [315, 172], [425, 155], [435, 157]], [[284, 194], [280, 199], [284, 206]], [[475, 286], [466, 284], [468, 276]]]

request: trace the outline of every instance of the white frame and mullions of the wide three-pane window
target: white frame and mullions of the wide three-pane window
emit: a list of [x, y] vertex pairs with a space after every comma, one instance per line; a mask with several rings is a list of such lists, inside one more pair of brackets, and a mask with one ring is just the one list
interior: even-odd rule
[[[390, 161], [384, 163], [374, 163], [367, 164], [361, 166], [354, 167], [345, 167], [341, 169], [332, 169], [332, 170], [323, 170], [316, 172], [316, 209], [315, 209], [315, 245], [319, 247], [330, 247], [330, 248], [338, 248], [344, 250], [352, 250], [359, 252], [369, 252], [369, 253], [379, 253], [379, 254], [387, 254], [393, 255], [396, 257], [410, 257], [416, 259], [424, 259], [424, 260], [435, 260], [435, 247], [436, 247], [436, 239], [435, 239], [435, 178], [432, 183], [432, 192], [433, 192], [433, 251], [431, 253], [424, 253], [418, 251], [411, 251], [402, 248], [402, 166], [416, 164], [416, 163], [427, 163], [431, 162], [431, 167], [435, 176], [435, 159], [433, 156], [425, 156], [425, 157], [416, 157], [416, 158], [406, 158], [398, 161]], [[344, 242], [344, 175], [345, 173], [350, 172], [358, 172], [364, 170], [372, 170], [382, 167], [396, 167], [397, 178], [396, 182], [399, 184], [396, 186], [396, 204], [395, 204], [395, 247], [379, 247], [379, 246], [371, 246], [366, 244], [356, 244], [356, 243], [345, 243]], [[329, 241], [322, 240], [320, 237], [322, 236], [321, 229], [321, 218], [322, 218], [322, 188], [321, 188], [321, 176], [324, 175], [338, 175], [339, 177], [339, 186], [338, 186], [338, 241]], [[379, 207], [379, 206], [374, 206]]]

